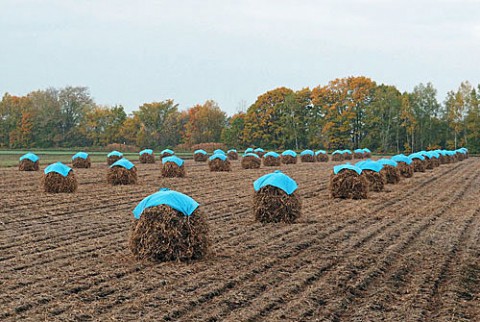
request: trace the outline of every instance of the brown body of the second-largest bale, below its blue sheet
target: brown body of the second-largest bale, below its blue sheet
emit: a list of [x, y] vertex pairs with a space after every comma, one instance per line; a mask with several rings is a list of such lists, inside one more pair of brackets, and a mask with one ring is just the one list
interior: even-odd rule
[[293, 192], [287, 194], [282, 189], [265, 186], [253, 195], [255, 220], [262, 223], [293, 223], [301, 215], [302, 203]]

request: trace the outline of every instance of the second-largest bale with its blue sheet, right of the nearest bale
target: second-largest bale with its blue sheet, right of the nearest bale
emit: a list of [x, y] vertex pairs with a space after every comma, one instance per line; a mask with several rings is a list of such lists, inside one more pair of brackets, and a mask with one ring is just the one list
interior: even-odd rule
[[293, 223], [301, 215], [302, 204], [295, 193], [297, 183], [289, 176], [275, 171], [257, 179], [253, 188], [255, 220], [262, 223]]

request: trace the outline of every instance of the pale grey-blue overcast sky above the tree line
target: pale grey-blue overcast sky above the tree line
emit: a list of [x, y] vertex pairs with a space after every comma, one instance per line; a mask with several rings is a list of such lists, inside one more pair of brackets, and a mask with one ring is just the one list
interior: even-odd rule
[[443, 101], [480, 83], [480, 1], [0, 0], [0, 93], [87, 86], [127, 111], [364, 75]]

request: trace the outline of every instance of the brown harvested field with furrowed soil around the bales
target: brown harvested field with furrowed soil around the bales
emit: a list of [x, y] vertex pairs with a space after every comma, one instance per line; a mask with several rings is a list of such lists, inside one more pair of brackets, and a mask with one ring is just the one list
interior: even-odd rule
[[[43, 166], [41, 165], [41, 170]], [[271, 168], [188, 178], [137, 165], [136, 185], [111, 186], [107, 166], [76, 169], [62, 198], [42, 171], [0, 168], [2, 321], [475, 321], [480, 316], [480, 160], [417, 172], [368, 199], [329, 196], [331, 164], [281, 165], [302, 216], [255, 222], [252, 182]], [[159, 187], [201, 204], [211, 256], [137, 262], [131, 213]], [[231, 187], [235, 187], [232, 189]]]

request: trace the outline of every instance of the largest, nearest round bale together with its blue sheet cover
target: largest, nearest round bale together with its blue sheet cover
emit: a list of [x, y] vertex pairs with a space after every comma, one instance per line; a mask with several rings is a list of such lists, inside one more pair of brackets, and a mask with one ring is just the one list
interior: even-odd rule
[[190, 261], [208, 254], [209, 227], [192, 198], [161, 190], [142, 200], [134, 215], [129, 247], [136, 259]]

